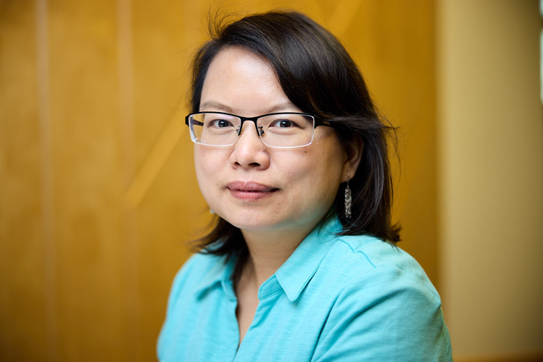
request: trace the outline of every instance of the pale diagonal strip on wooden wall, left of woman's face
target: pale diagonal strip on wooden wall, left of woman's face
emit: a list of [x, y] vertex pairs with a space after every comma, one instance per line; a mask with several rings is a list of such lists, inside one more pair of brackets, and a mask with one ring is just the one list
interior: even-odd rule
[[145, 196], [162, 169], [162, 166], [166, 163], [166, 159], [168, 159], [171, 151], [174, 150], [177, 141], [179, 141], [184, 132], [184, 122], [181, 121], [183, 112], [184, 107], [179, 107], [176, 110], [166, 129], [162, 131], [151, 153], [144, 161], [143, 166], [141, 166], [138, 174], [136, 174], [134, 181], [132, 181], [124, 196], [124, 202], [127, 207], [136, 208], [139, 205], [141, 199]]

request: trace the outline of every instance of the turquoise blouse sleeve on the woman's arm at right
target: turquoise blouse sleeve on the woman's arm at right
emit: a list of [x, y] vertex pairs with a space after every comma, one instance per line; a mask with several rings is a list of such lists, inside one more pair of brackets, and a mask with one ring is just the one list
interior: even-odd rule
[[399, 268], [355, 279], [334, 303], [312, 361], [452, 361], [432, 289]]

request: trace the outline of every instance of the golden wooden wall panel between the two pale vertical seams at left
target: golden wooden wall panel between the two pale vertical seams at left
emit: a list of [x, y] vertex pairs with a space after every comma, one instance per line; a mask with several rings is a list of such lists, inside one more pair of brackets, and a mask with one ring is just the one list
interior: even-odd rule
[[60, 361], [119, 361], [124, 310], [116, 6], [49, 1]]

